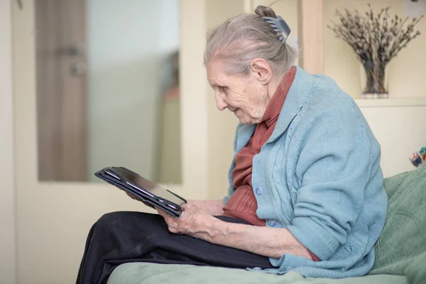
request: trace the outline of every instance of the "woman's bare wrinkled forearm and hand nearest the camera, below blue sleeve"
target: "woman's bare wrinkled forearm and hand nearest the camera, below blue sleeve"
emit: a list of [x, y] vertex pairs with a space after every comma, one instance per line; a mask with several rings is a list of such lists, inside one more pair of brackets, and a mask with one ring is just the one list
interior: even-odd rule
[[288, 229], [223, 222], [191, 203], [185, 204], [182, 209], [179, 218], [158, 210], [168, 224], [169, 230], [175, 234], [187, 234], [212, 244], [250, 251], [262, 256], [280, 258], [285, 253], [290, 253], [312, 260], [309, 251]]

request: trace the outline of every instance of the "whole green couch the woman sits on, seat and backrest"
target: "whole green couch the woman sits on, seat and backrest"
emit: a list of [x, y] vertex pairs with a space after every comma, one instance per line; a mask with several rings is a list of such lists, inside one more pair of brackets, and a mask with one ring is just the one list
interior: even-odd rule
[[426, 283], [426, 168], [384, 180], [389, 209], [378, 239], [376, 261], [370, 273], [359, 278], [303, 278], [290, 271], [272, 275], [243, 269], [126, 263], [118, 266], [108, 284], [146, 283]]

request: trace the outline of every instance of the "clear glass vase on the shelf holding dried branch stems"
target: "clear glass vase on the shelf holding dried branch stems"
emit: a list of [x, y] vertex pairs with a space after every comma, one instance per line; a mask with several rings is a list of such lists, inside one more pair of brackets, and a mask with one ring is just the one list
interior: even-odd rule
[[364, 86], [361, 99], [388, 99], [387, 64], [381, 61], [366, 61], [361, 66], [361, 84]]

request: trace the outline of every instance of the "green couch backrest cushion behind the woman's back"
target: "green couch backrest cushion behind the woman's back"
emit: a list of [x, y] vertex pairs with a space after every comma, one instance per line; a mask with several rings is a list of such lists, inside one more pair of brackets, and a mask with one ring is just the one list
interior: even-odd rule
[[386, 178], [384, 187], [388, 215], [370, 274], [404, 275], [410, 263], [426, 251], [426, 168]]

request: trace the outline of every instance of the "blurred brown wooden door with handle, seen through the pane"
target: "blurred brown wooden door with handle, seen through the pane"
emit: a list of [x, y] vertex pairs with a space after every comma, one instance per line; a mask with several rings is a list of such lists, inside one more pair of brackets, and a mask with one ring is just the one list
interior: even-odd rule
[[38, 178], [87, 180], [85, 0], [36, 0]]

